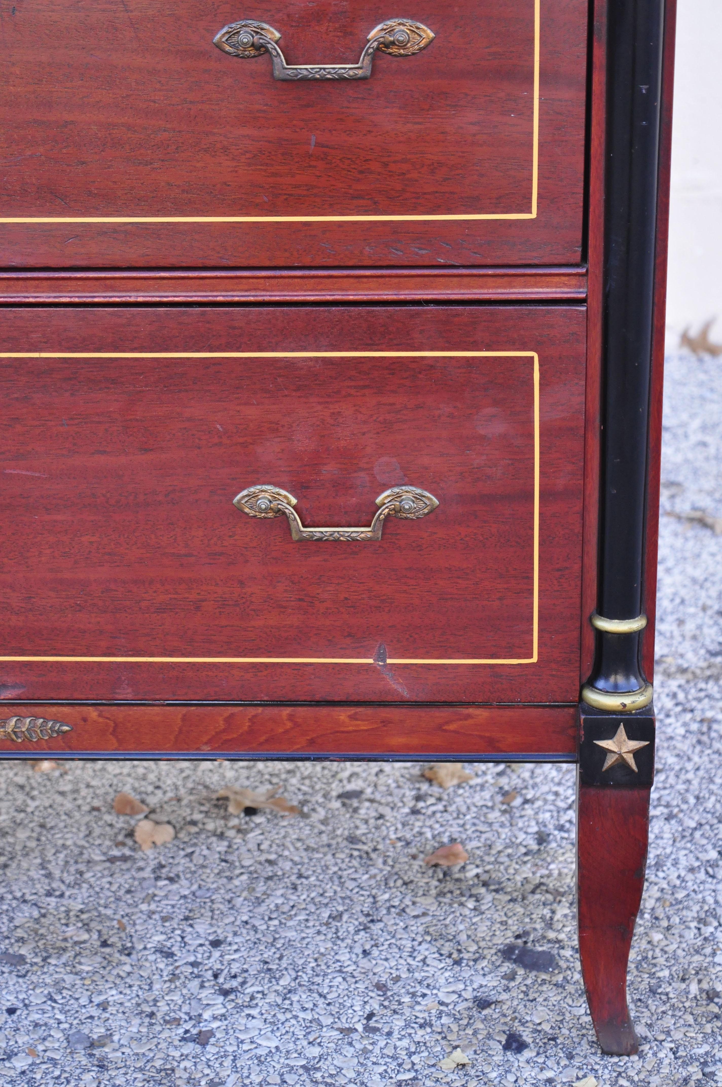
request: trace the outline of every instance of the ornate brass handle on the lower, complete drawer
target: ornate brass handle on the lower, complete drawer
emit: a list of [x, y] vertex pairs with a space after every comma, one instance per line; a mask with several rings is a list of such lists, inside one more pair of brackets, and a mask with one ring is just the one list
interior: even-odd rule
[[294, 509], [296, 499], [281, 487], [260, 484], [247, 487], [233, 504], [251, 517], [279, 517], [285, 514], [295, 540], [379, 540], [386, 517], [415, 521], [432, 513], [438, 505], [427, 490], [418, 487], [391, 487], [376, 499], [378, 510], [368, 528], [304, 528]]

